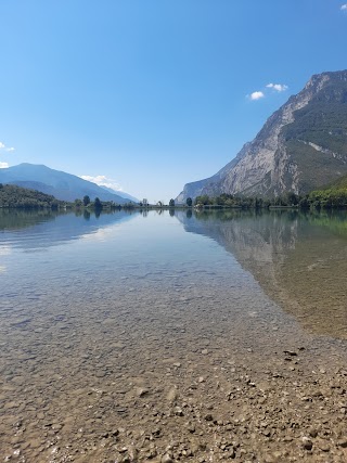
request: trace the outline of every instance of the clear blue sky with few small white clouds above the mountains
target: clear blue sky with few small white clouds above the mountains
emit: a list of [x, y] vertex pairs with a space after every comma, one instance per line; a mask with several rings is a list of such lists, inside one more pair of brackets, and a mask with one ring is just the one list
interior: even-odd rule
[[346, 0], [0, 0], [0, 165], [168, 202], [346, 43]]

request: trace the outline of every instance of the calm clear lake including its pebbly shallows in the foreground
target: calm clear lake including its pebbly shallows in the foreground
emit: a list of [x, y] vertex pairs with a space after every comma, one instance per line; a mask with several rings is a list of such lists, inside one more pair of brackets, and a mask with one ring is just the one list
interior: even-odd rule
[[347, 215], [0, 209], [3, 461], [347, 461]]

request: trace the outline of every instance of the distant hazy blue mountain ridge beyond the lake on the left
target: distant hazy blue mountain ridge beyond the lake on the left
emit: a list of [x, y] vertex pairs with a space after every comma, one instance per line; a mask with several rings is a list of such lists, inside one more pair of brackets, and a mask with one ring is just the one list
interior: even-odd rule
[[101, 201], [114, 201], [117, 204], [129, 203], [128, 198], [116, 194], [116, 192], [110, 192], [77, 176], [50, 169], [43, 165], [24, 163], [0, 169], [0, 183], [38, 190], [62, 201], [73, 202], [88, 195], [92, 201], [98, 196]]

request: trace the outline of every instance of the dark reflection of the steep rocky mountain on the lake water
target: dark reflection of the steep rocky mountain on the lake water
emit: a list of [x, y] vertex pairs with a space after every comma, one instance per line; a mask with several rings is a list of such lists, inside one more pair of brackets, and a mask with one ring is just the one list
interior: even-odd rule
[[347, 338], [347, 215], [178, 215], [217, 241], [265, 293], [310, 332]]

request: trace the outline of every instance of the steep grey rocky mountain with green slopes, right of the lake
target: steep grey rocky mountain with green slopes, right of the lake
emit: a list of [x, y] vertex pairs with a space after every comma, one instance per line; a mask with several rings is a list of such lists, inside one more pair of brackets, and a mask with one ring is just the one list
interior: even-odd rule
[[178, 203], [202, 194], [296, 194], [347, 173], [347, 70], [314, 75], [215, 176], [188, 183]]

